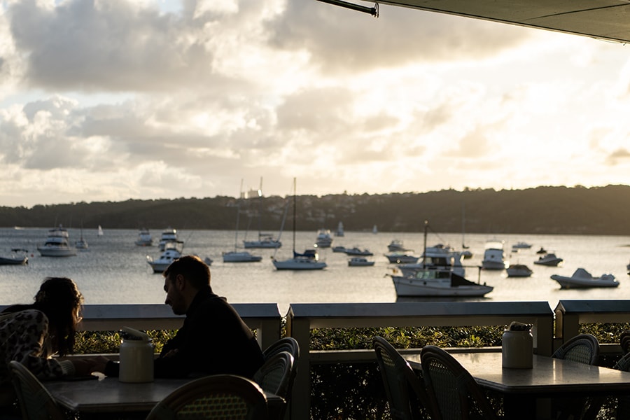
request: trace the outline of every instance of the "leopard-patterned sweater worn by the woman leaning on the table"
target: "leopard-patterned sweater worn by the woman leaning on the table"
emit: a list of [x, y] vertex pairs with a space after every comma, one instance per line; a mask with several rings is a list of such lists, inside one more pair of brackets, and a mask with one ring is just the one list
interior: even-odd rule
[[37, 309], [14, 314], [0, 314], [0, 386], [10, 382], [8, 363], [25, 365], [38, 379], [72, 376], [69, 360], [59, 362], [52, 357], [48, 337], [48, 317]]

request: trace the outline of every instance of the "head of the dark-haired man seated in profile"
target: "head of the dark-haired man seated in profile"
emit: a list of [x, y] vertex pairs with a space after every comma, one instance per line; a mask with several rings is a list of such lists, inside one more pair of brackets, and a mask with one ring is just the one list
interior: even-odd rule
[[197, 292], [210, 286], [210, 268], [199, 257], [186, 255], [178, 258], [165, 269], [165, 300], [174, 314], [183, 315], [188, 311]]

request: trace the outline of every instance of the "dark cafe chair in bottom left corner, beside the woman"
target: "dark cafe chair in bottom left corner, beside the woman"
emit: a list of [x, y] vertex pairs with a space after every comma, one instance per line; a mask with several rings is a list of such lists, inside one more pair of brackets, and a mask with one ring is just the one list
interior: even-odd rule
[[18, 395], [22, 419], [66, 420], [64, 412], [59, 408], [55, 399], [25, 365], [11, 360], [9, 362], [9, 374], [15, 388], [15, 394]]

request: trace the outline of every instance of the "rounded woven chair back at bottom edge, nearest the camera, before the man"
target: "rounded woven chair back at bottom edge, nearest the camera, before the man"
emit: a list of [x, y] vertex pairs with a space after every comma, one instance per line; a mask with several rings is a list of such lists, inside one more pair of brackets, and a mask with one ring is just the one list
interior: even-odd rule
[[255, 382], [214, 374], [188, 382], [158, 402], [146, 420], [265, 420], [267, 398]]

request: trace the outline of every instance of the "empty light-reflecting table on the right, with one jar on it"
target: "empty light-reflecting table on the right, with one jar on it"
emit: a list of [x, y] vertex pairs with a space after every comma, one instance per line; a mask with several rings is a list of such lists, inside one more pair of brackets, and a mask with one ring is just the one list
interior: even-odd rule
[[[608, 367], [534, 355], [531, 369], [510, 369], [502, 367], [500, 352], [451, 353], [451, 356], [472, 374], [479, 386], [503, 394], [508, 419], [549, 416], [549, 411], [545, 412], [549, 410], [549, 400], [545, 405], [541, 404], [541, 398], [630, 395], [630, 372]], [[403, 357], [414, 369], [421, 369], [419, 353]]]

